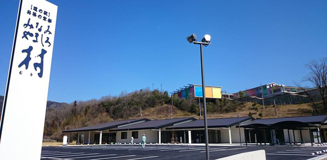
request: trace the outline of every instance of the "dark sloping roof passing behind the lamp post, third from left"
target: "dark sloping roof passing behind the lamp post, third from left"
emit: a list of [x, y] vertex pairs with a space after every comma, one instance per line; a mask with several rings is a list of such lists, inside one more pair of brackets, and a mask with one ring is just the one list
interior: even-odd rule
[[[244, 121], [251, 120], [251, 117], [240, 117], [240, 123]], [[230, 127], [234, 125], [238, 125], [238, 118], [221, 118], [221, 119], [208, 119], [207, 126], [208, 128], [221, 128], [221, 127]], [[193, 122], [188, 122], [172, 127], [168, 127], [167, 129], [192, 129], [192, 128], [204, 128], [204, 121], [197, 120]]]

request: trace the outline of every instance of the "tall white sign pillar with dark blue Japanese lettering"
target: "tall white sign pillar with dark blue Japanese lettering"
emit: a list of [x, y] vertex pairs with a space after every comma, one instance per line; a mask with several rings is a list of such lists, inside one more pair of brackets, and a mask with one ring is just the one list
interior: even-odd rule
[[[40, 159], [57, 6], [20, 0], [0, 120], [1, 159]], [[21, 143], [24, 137], [31, 143]], [[17, 145], [24, 148], [17, 154]]]

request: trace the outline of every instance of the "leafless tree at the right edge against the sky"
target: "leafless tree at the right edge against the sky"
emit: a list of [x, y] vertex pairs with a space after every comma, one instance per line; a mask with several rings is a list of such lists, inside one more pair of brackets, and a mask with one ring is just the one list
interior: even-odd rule
[[319, 90], [323, 106], [327, 108], [327, 57], [322, 57], [318, 61], [311, 60], [306, 67], [310, 73], [303, 80], [312, 82]]

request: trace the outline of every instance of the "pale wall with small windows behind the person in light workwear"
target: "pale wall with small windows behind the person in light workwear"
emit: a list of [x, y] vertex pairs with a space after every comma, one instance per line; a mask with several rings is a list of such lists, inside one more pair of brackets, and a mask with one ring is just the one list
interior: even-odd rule
[[[141, 143], [142, 142], [142, 136], [145, 134], [147, 141], [146, 143], [158, 143], [158, 132], [157, 130], [133, 130], [133, 131], [138, 131], [138, 139], [134, 138], [134, 143]], [[130, 143], [131, 141], [131, 136], [132, 136], [132, 131], [129, 131], [129, 140], [127, 139], [121, 139], [122, 138], [122, 132], [127, 132], [127, 131], [118, 131], [116, 133], [116, 142], [117, 143]]]

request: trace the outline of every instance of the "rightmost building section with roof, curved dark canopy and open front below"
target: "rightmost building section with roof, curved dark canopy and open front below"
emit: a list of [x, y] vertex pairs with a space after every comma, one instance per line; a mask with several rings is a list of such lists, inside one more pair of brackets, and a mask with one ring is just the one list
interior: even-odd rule
[[259, 119], [245, 124], [245, 142], [265, 145], [290, 145], [310, 142], [321, 143], [321, 125], [327, 120], [327, 116], [291, 117], [275, 119]]

